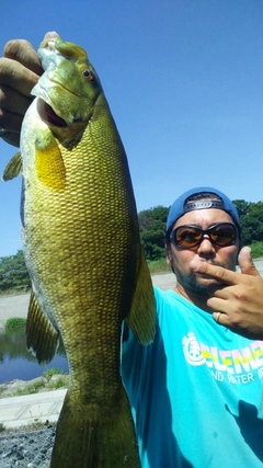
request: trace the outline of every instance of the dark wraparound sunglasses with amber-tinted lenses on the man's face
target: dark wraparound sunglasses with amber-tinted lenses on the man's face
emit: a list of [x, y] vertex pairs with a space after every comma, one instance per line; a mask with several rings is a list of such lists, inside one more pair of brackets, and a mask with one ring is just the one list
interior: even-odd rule
[[238, 238], [238, 228], [232, 222], [220, 222], [208, 229], [196, 226], [179, 226], [170, 233], [170, 241], [180, 249], [192, 249], [199, 246], [207, 235], [211, 243], [219, 247], [232, 246]]

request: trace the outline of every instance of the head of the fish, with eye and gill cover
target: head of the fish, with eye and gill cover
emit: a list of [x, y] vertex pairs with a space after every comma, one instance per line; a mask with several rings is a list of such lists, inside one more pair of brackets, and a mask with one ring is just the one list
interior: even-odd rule
[[38, 98], [41, 118], [57, 132], [67, 126], [84, 128], [94, 114], [99, 98], [104, 95], [85, 50], [53, 37], [41, 44], [38, 56], [44, 73], [32, 94]]

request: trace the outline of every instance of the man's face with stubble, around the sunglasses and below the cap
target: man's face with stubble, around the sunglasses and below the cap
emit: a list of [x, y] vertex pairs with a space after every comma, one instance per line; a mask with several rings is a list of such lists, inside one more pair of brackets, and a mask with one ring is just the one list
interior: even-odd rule
[[[202, 229], [208, 229], [218, 222], [232, 222], [233, 220], [222, 209], [196, 209], [188, 212], [179, 218], [173, 229], [179, 226], [191, 225]], [[180, 249], [172, 242], [167, 243], [167, 262], [173, 267], [178, 283], [184, 288], [196, 294], [207, 295], [207, 286], [215, 283], [214, 279], [197, 274], [190, 269], [192, 260], [208, 262], [213, 265], [224, 266], [235, 271], [237, 265], [239, 241], [233, 246], [219, 247], [214, 244], [208, 235], [205, 235], [201, 243], [191, 249]]]

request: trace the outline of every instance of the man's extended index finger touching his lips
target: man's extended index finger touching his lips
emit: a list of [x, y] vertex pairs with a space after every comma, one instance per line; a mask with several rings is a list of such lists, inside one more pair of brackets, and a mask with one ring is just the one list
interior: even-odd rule
[[222, 266], [211, 265], [207, 262], [193, 261], [190, 263], [190, 266], [195, 273], [205, 274], [211, 279], [216, 279], [219, 283], [227, 285], [239, 284], [242, 276], [240, 273], [232, 272], [231, 270], [224, 269]]

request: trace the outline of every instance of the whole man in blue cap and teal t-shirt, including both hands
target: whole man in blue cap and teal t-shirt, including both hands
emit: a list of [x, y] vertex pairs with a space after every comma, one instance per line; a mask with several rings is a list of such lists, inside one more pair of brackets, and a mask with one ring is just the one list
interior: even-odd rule
[[[18, 146], [42, 69], [25, 41], [9, 43], [4, 55], [0, 136]], [[123, 345], [142, 466], [262, 466], [263, 279], [249, 249], [239, 253], [232, 203], [215, 189], [182, 195], [168, 217], [165, 247], [178, 285], [156, 289], [155, 342], [142, 347], [128, 332]]]

